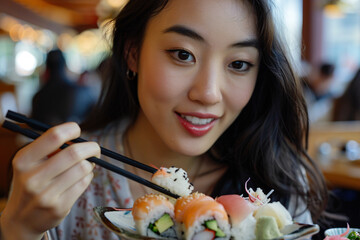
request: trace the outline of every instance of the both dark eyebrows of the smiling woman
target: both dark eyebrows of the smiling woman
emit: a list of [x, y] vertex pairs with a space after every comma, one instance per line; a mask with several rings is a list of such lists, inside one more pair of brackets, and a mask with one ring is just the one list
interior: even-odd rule
[[[192, 39], [201, 41], [201, 42], [205, 42], [205, 39], [198, 34], [197, 32], [195, 32], [194, 30], [191, 30], [188, 27], [182, 26], [182, 25], [174, 25], [171, 26], [169, 28], [166, 28], [164, 31], [164, 33], [178, 33], [180, 35], [186, 36], [186, 37], [190, 37]], [[254, 47], [256, 49], [259, 49], [259, 41], [257, 39], [248, 39], [245, 41], [240, 41], [234, 44], [231, 44], [231, 47]]]

